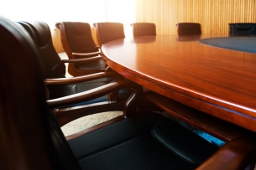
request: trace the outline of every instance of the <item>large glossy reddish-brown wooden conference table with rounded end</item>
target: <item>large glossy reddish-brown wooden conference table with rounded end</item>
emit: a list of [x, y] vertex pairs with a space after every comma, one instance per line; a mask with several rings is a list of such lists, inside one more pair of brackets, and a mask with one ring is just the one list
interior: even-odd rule
[[[208, 44], [212, 39], [217, 41]], [[256, 131], [256, 51], [251, 42], [256, 38], [142, 36], [102, 45], [102, 58], [128, 80], [154, 91], [156, 105], [163, 102], [168, 108], [170, 100], [181, 109], [187, 106]]]

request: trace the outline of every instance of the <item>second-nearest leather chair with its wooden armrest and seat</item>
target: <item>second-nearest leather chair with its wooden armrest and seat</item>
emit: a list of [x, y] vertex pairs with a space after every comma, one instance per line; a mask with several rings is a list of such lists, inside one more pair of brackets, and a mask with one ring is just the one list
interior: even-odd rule
[[[40, 55], [37, 55], [37, 59], [39, 60], [44, 75], [44, 84], [47, 90], [49, 90], [49, 100], [51, 100], [50, 107], [56, 108], [69, 105], [81, 106], [109, 101], [109, 95], [107, 94], [86, 102], [83, 102], [82, 97], [80, 100], [60, 100], [60, 98], [65, 99], [67, 96], [76, 95], [86, 90], [92, 90], [102, 85], [107, 85], [115, 80], [123, 79], [123, 77], [108, 68], [102, 73], [65, 78], [64, 62], [66, 60], [64, 62], [60, 60], [59, 55], [55, 52], [48, 25], [44, 22], [19, 22], [19, 24], [29, 32], [29, 35], [34, 39], [40, 51]], [[67, 59], [67, 61], [69, 61], [69, 59]], [[122, 100], [122, 98], [128, 97], [129, 94], [130, 91], [122, 91], [118, 96], [120, 96]], [[117, 94], [114, 93], [114, 95]], [[118, 100], [116, 96], [110, 98], [110, 100], [114, 99], [113, 101]]]

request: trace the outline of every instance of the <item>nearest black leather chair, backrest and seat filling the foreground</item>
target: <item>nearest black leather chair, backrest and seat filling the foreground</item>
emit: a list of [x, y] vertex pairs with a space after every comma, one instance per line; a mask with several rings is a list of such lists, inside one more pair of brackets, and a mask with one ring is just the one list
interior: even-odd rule
[[1, 169], [194, 169], [217, 150], [163, 116], [132, 116], [130, 102], [127, 118], [66, 141], [45, 102], [33, 39], [2, 17], [0, 34]]

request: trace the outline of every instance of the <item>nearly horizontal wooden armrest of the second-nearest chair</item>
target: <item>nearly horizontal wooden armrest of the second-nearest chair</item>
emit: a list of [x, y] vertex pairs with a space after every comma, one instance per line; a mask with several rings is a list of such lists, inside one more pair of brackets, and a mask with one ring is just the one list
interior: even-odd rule
[[75, 84], [75, 83], [82, 83], [89, 80], [97, 80], [97, 79], [106, 78], [106, 77], [116, 77], [117, 79], [120, 79], [121, 75], [118, 75], [115, 72], [101, 72], [101, 73], [83, 75], [83, 76], [77, 76], [77, 77], [71, 77], [71, 78], [45, 79], [44, 84], [45, 85]]

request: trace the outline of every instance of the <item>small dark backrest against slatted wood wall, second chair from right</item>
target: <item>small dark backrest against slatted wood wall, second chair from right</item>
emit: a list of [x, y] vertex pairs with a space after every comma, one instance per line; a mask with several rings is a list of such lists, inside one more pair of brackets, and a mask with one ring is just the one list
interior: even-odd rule
[[201, 34], [200, 23], [177, 23], [178, 35], [196, 35]]

